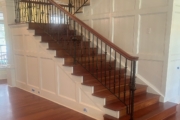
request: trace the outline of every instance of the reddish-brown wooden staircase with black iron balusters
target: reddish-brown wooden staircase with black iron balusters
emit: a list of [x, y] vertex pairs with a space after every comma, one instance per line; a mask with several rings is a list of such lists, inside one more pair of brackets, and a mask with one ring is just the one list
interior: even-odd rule
[[[82, 3], [77, 11], [71, 10], [75, 4], [64, 7], [79, 13], [89, 4]], [[92, 96], [104, 98], [104, 108], [119, 113], [114, 117], [105, 114], [104, 120], [163, 120], [176, 113], [176, 104], [159, 102], [159, 95], [146, 92], [148, 86], [135, 84], [137, 57], [109, 42], [53, 0], [23, 0], [21, 5], [30, 6], [26, 10], [34, 15], [22, 17], [16, 9], [16, 21], [29, 22], [29, 29], [42, 37], [41, 42], [56, 51], [55, 57], [64, 58], [64, 66], [73, 67], [72, 75], [83, 76], [82, 85], [94, 87]]]

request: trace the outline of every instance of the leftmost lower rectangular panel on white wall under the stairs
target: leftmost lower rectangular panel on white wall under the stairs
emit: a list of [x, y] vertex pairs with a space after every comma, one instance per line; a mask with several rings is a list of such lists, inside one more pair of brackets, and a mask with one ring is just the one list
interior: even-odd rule
[[22, 82], [24, 84], [26, 81], [26, 62], [23, 55], [15, 55], [16, 61], [16, 81]]

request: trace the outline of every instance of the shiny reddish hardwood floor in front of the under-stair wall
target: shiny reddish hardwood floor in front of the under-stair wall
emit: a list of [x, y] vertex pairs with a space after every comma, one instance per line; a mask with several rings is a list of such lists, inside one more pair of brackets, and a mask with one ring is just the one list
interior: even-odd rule
[[0, 80], [0, 120], [94, 120]]

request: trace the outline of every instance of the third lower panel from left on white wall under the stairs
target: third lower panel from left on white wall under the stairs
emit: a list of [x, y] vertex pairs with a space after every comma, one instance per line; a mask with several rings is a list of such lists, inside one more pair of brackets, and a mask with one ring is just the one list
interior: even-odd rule
[[41, 88], [49, 93], [56, 93], [55, 65], [51, 59], [41, 58]]

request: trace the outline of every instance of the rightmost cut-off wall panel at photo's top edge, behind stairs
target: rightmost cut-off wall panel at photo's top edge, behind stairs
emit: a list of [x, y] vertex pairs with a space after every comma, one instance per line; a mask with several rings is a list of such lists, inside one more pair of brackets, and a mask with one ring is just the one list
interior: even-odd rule
[[168, 1], [169, 0], [141, 0], [140, 9], [167, 6]]

